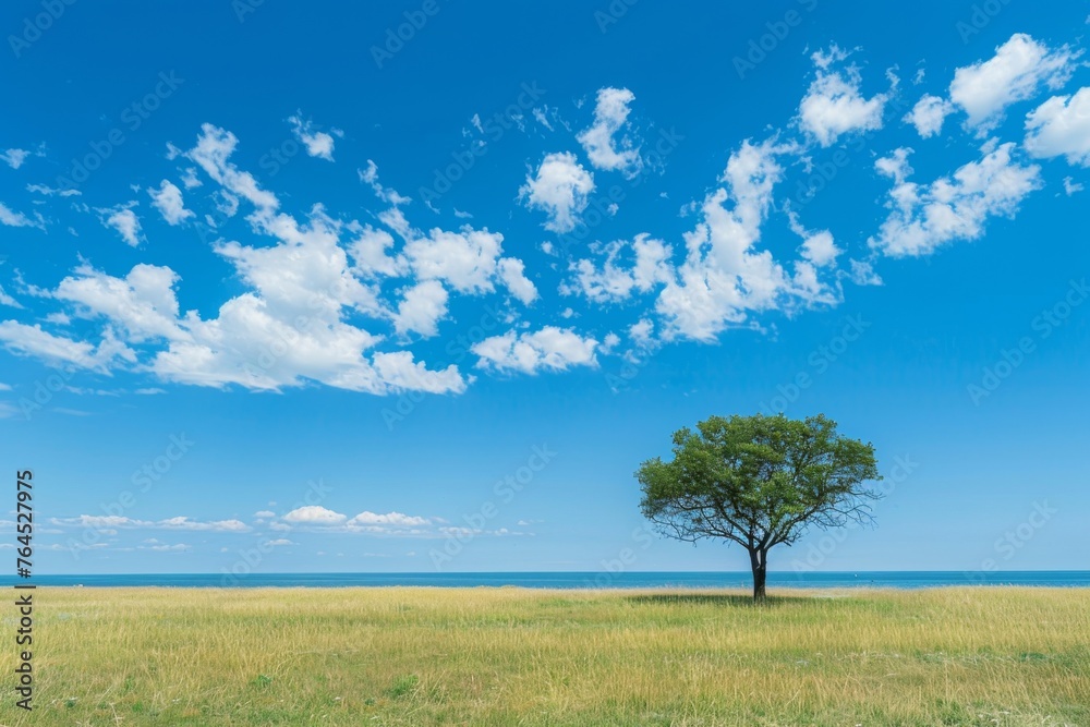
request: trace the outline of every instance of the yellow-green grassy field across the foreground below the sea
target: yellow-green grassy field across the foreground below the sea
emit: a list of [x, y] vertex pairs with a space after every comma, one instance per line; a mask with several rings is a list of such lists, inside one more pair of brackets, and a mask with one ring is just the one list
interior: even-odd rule
[[[1087, 725], [1090, 592], [39, 589], [3, 725]], [[14, 598], [12, 598], [14, 601]]]

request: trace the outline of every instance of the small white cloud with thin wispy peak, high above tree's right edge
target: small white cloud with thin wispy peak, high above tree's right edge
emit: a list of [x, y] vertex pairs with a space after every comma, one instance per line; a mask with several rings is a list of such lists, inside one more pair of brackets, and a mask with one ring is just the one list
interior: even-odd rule
[[827, 54], [819, 50], [811, 58], [819, 70], [799, 105], [802, 129], [822, 146], [832, 145], [841, 134], [881, 129], [888, 95], [864, 98], [859, 88], [862, 78], [856, 68], [829, 72], [834, 62], [846, 58], [836, 46]]

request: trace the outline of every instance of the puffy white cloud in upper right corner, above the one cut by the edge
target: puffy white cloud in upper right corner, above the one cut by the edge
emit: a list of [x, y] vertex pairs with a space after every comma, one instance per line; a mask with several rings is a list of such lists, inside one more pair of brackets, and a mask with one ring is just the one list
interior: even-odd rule
[[954, 72], [950, 100], [969, 114], [969, 126], [984, 135], [1003, 120], [1010, 104], [1032, 98], [1042, 84], [1055, 89], [1067, 83], [1077, 57], [1067, 46], [1050, 50], [1016, 33], [989, 60]]

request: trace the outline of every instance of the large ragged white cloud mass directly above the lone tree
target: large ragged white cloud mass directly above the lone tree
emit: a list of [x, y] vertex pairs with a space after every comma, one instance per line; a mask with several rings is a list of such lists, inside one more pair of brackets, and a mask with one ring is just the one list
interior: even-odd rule
[[[838, 59], [822, 56], [818, 63], [827, 66]], [[561, 292], [592, 302], [622, 302], [657, 291], [659, 325], [645, 317], [629, 330], [642, 347], [652, 344], [653, 334], [663, 340], [714, 340], [725, 328], [744, 324], [751, 313], [838, 302], [840, 250], [832, 232], [806, 230], [788, 214], [791, 229], [802, 237], [794, 275], [771, 251], [760, 249], [762, 226], [774, 209], [774, 187], [784, 174], [778, 158], [797, 157], [801, 148], [775, 136], [760, 144], [743, 142], [727, 162], [722, 186], [694, 205], [700, 221], [683, 234], [681, 262], [674, 260], [673, 246], [650, 234], [592, 244], [598, 260], [573, 263], [573, 276]]]

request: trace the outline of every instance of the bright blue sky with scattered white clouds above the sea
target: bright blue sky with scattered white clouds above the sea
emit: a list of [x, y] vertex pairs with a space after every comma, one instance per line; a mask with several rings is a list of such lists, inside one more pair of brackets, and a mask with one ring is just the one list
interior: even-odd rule
[[8, 3], [36, 567], [743, 570], [632, 473], [784, 411], [889, 492], [774, 570], [1085, 568], [1088, 15]]

